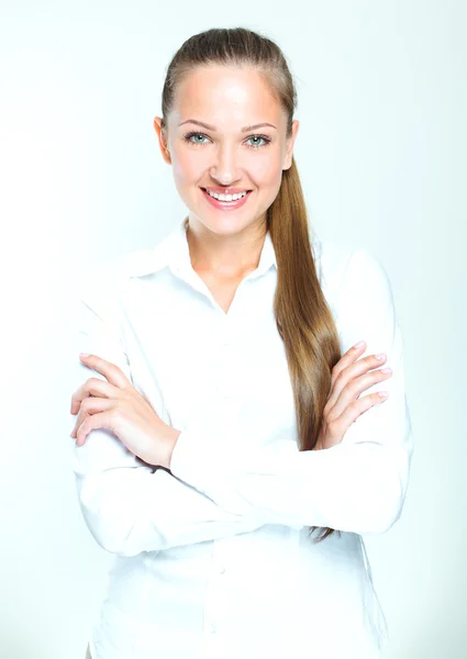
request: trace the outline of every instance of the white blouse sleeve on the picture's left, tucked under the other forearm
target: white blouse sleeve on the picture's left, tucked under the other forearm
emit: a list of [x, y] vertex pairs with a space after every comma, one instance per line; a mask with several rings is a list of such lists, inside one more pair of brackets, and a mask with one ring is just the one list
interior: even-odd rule
[[[74, 391], [88, 378], [104, 379], [81, 364], [80, 351], [116, 364], [133, 382], [113, 300], [98, 277], [75, 290]], [[256, 514], [246, 518], [223, 511], [165, 468], [141, 460], [107, 428], [91, 431], [80, 447], [73, 442], [71, 469], [89, 530], [103, 549], [120, 556], [223, 538], [266, 523]]]

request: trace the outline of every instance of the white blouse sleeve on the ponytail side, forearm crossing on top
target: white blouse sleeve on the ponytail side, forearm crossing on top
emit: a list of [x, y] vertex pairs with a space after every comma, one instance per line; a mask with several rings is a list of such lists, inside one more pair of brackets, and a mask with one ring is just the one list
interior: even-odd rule
[[333, 305], [342, 354], [360, 339], [367, 343], [362, 357], [386, 353], [391, 378], [360, 395], [387, 390], [389, 396], [362, 414], [338, 445], [323, 450], [300, 451], [283, 440], [240, 457], [225, 448], [234, 442], [184, 431], [171, 472], [231, 513], [256, 511], [275, 523], [358, 534], [385, 533], [400, 517], [413, 450], [401, 332], [380, 263], [364, 248], [347, 258]]

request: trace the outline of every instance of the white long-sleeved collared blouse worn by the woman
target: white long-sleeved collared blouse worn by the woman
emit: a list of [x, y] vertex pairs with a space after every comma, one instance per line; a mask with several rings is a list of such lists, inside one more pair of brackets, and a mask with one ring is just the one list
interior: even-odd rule
[[[96, 266], [76, 295], [76, 388], [104, 379], [78, 358], [99, 355], [181, 431], [170, 471], [110, 431], [71, 443], [85, 522], [114, 555], [92, 659], [379, 657], [389, 633], [362, 534], [399, 518], [413, 451], [388, 276], [366, 249], [310, 235], [342, 351], [365, 339], [393, 373], [341, 444], [299, 451], [269, 233], [225, 313], [186, 228]], [[312, 525], [341, 534], [315, 543]]]

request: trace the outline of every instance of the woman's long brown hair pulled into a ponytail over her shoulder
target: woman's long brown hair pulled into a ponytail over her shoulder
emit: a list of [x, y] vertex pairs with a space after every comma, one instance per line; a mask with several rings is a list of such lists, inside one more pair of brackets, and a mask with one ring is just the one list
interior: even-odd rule
[[[245, 27], [207, 30], [188, 38], [176, 52], [163, 89], [163, 130], [177, 85], [192, 69], [211, 64], [257, 68], [287, 113], [287, 137], [290, 137], [297, 91], [286, 58], [275, 42]], [[274, 311], [293, 389], [299, 449], [312, 450], [330, 392], [331, 371], [342, 355], [334, 319], [316, 275], [293, 157], [291, 167], [282, 171], [279, 192], [267, 210], [267, 228], [277, 258]], [[320, 527], [311, 526], [310, 535], [316, 528]], [[326, 527], [316, 541], [334, 530]]]

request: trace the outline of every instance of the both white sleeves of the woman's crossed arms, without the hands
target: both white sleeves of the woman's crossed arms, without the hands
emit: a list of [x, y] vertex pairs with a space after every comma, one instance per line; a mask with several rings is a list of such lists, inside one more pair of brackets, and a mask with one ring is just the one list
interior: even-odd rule
[[[404, 393], [402, 338], [392, 291], [379, 263], [353, 253], [335, 304], [342, 349], [364, 338], [367, 353], [385, 351], [393, 375], [389, 398], [353, 424], [341, 444], [299, 451], [292, 442], [235, 455], [234, 438], [187, 428], [170, 471], [140, 460], [110, 432], [93, 429], [73, 448], [73, 471], [86, 524], [96, 540], [134, 556], [247, 533], [264, 524], [329, 526], [382, 533], [399, 518], [413, 449]], [[79, 351], [116, 364], [131, 379], [112, 295], [93, 286], [79, 297], [79, 345], [71, 356], [81, 382]], [[367, 392], [378, 391], [382, 383]], [[225, 437], [223, 437], [225, 439]]]

